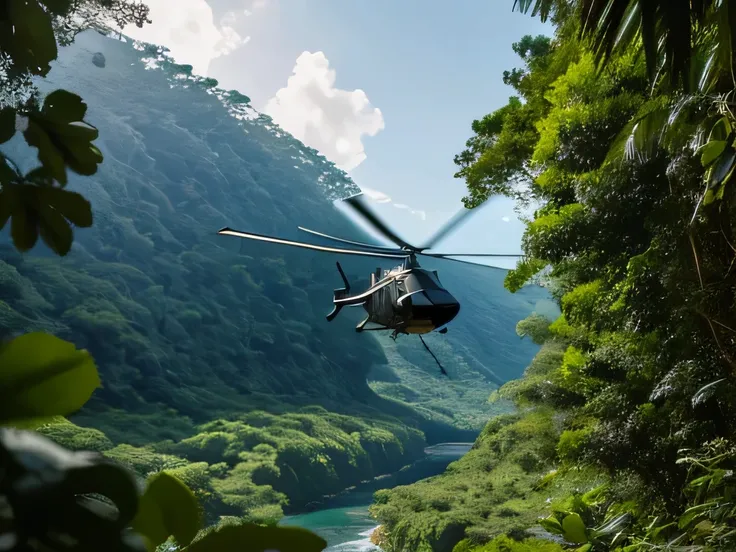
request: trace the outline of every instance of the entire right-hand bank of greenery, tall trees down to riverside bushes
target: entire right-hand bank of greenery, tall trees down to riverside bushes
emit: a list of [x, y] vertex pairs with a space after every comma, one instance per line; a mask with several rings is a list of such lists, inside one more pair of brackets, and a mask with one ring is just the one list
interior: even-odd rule
[[519, 5], [552, 15], [555, 36], [514, 44], [519, 97], [473, 123], [456, 163], [469, 205], [538, 202], [506, 286], [546, 269], [562, 315], [518, 326], [544, 345], [491, 396], [517, 414], [446, 474], [377, 494], [380, 539], [733, 550], [733, 20], [725, 3]]

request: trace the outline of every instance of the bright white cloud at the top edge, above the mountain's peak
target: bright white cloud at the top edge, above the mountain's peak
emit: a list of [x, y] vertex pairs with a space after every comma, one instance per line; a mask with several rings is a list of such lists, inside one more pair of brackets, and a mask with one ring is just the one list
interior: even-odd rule
[[194, 73], [207, 76], [210, 62], [246, 44], [236, 30], [241, 17], [226, 13], [215, 23], [212, 8], [206, 0], [146, 0], [152, 23], [142, 29], [126, 27], [124, 33], [135, 40], [166, 46], [177, 63], [191, 65]]

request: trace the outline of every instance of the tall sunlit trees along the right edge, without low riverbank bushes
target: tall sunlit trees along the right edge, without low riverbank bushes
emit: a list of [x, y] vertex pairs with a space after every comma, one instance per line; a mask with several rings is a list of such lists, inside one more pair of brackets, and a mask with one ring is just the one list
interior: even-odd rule
[[[617, 520], [626, 550], [734, 545], [733, 520], [713, 506], [733, 492], [718, 474], [736, 461], [728, 4], [517, 2], [554, 18], [555, 37], [543, 64], [504, 76], [528, 86], [526, 101], [474, 125], [475, 149], [458, 173], [470, 206], [492, 193], [540, 205], [506, 285], [516, 291], [550, 267], [562, 316], [545, 347], [564, 353], [500, 396], [559, 413], [563, 466], [632, 482], [597, 513], [571, 498], [586, 524]], [[519, 143], [522, 110], [533, 134], [499, 155], [501, 137]], [[636, 505], [625, 530], [621, 502]], [[649, 516], [659, 521], [645, 530]], [[587, 549], [615, 549], [585, 533]]]

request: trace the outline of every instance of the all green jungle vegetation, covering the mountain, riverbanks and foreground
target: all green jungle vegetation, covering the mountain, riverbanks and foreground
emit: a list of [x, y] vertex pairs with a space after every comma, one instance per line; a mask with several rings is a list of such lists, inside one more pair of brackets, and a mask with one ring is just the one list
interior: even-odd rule
[[375, 493], [385, 552], [736, 547], [736, 5], [504, 3], [554, 32], [509, 45], [515, 95], [455, 164], [466, 207], [532, 209], [517, 267], [469, 277], [523, 341], [479, 361], [479, 314], [437, 344], [437, 390], [420, 349], [325, 334], [330, 263], [207, 230], [329, 218], [358, 239], [331, 217], [347, 174], [165, 49], [105, 36], [146, 25], [142, 4], [6, 2], [8, 549], [323, 550], [279, 519], [453, 439], [475, 444], [445, 473]]

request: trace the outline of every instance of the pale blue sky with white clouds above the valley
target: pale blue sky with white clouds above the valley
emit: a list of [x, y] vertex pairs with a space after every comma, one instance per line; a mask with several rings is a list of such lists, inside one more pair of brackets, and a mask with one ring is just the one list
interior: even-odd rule
[[[521, 65], [512, 43], [552, 33], [512, 11], [513, 0], [145, 3], [153, 23], [125, 34], [165, 45], [178, 63], [249, 96], [346, 170], [409, 242], [462, 208], [453, 157], [472, 121], [513, 95], [501, 80]], [[523, 224], [510, 200], [476, 211], [436, 249], [520, 252]]]

